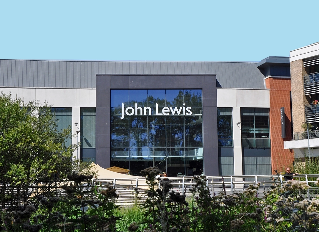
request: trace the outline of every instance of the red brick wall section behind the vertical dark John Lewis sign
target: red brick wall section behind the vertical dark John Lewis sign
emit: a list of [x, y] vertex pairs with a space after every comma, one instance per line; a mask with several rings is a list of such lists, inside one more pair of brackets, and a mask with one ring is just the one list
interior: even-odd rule
[[[293, 150], [284, 149], [284, 141], [291, 140], [291, 108], [290, 108], [290, 78], [269, 77], [265, 80], [266, 88], [270, 90], [270, 139], [271, 168], [284, 171], [291, 167], [294, 160]], [[286, 138], [281, 138], [280, 108], [285, 107]]]

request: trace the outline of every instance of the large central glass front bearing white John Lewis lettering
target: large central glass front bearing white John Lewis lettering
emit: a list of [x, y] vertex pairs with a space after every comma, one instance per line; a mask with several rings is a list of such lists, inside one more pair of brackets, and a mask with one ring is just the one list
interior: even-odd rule
[[202, 174], [202, 90], [111, 90], [111, 166]]

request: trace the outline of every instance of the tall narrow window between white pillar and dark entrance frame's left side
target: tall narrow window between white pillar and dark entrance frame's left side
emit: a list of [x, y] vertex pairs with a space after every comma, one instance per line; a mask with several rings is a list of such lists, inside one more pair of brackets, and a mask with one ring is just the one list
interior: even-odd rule
[[95, 162], [95, 115], [96, 108], [80, 109], [80, 158]]

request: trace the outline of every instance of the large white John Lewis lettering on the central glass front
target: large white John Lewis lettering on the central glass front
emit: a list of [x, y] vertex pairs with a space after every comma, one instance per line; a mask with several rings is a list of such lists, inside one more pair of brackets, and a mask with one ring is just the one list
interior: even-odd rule
[[[156, 114], [155, 115], [192, 115], [192, 107], [185, 107], [185, 103], [182, 107], [163, 107], [162, 111], [159, 112], [159, 105], [156, 103]], [[122, 103], [122, 117], [124, 119], [125, 115], [152, 115], [151, 107], [138, 107], [135, 103], [135, 108], [127, 107], [125, 108], [124, 103]]]

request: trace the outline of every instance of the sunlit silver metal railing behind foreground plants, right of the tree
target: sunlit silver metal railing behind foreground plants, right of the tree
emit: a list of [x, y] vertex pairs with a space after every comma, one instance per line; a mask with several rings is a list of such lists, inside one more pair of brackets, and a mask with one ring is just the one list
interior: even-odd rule
[[[304, 192], [303, 197], [311, 199], [319, 194], [319, 186], [316, 186], [316, 179], [319, 178], [318, 175], [298, 175], [294, 177], [296, 180], [306, 181], [308, 185], [311, 186], [310, 189]], [[180, 192], [185, 194], [187, 198], [191, 197], [189, 188], [196, 182], [193, 177], [169, 177], [172, 180], [173, 188], [175, 192]], [[218, 194], [223, 191], [223, 184], [225, 185], [226, 194], [232, 194], [235, 192], [243, 192], [249, 187], [250, 184], [256, 185], [260, 183], [257, 194], [259, 197], [263, 197], [264, 192], [271, 190], [274, 186], [274, 180], [276, 180], [278, 185], [285, 184], [284, 175], [263, 175], [263, 176], [208, 176], [206, 185], [208, 186], [211, 195]], [[128, 181], [128, 183], [123, 183], [123, 181]], [[135, 204], [144, 203], [147, 199], [146, 191], [148, 186], [145, 184], [145, 178], [127, 178], [127, 179], [99, 179], [96, 180], [95, 184], [103, 186], [103, 183], [112, 183], [117, 189], [119, 198], [117, 204], [123, 206], [130, 206]], [[131, 184], [130, 184], [131, 183]], [[160, 183], [159, 186], [160, 187]], [[280, 186], [279, 186], [280, 187]], [[102, 190], [100, 188], [100, 190]], [[138, 194], [135, 190], [138, 190]]]

